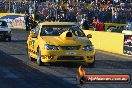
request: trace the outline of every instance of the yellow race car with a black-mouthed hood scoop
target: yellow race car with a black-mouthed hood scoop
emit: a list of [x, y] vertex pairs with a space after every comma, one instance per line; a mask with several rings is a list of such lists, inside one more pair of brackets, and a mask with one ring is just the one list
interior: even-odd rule
[[91, 35], [72, 22], [43, 22], [30, 31], [27, 53], [40, 66], [55, 62], [85, 62], [93, 65], [95, 50]]

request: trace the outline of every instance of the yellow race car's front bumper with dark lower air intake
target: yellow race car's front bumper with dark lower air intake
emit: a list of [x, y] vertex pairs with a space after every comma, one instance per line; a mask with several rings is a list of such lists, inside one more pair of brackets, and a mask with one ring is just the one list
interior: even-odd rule
[[42, 62], [86, 62], [93, 63], [95, 60], [95, 51], [83, 50], [42, 50]]

